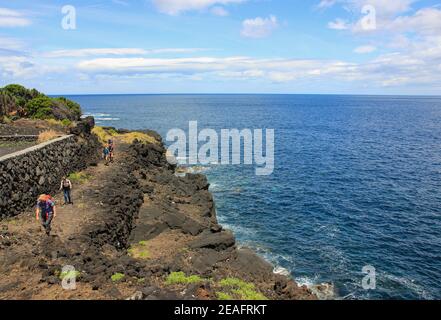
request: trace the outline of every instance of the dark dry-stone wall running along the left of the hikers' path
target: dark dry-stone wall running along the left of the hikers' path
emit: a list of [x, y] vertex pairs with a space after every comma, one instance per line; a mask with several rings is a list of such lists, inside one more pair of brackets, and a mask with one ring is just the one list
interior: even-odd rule
[[63, 175], [96, 163], [94, 135], [68, 135], [0, 157], [0, 219], [29, 210], [42, 193], [55, 193]]

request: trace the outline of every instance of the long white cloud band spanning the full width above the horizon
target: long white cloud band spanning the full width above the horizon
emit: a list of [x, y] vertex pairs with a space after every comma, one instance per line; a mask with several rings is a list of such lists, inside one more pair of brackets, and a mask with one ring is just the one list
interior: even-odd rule
[[[123, 50], [124, 51], [124, 50]], [[368, 51], [368, 50], [361, 50]], [[90, 53], [90, 52], [89, 52]], [[351, 87], [400, 87], [423, 84], [431, 88], [441, 83], [441, 36], [414, 43], [406, 53], [383, 54], [367, 62], [343, 60], [258, 59], [253, 57], [151, 58], [143, 55], [93, 58], [72, 57], [72, 61], [48, 58], [39, 53], [31, 57], [0, 55], [0, 76], [4, 79], [45, 77], [62, 74], [82, 75], [85, 79], [186, 79], [186, 81], [229, 79], [277, 83], [339, 82]], [[61, 58], [64, 57], [61, 55]], [[88, 58], [89, 57], [89, 58]], [[115, 80], [115, 81], [116, 81]]]

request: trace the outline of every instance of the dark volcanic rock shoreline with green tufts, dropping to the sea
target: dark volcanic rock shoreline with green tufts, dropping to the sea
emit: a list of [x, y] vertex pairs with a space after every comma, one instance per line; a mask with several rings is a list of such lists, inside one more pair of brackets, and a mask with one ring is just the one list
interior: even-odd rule
[[[68, 235], [42, 239], [35, 226], [2, 224], [0, 298], [316, 299], [239, 248], [217, 222], [206, 177], [178, 176], [153, 136], [158, 143], [117, 142], [120, 159], [94, 179], [99, 185], [83, 187], [90, 210]], [[60, 286], [66, 265], [76, 290]]]

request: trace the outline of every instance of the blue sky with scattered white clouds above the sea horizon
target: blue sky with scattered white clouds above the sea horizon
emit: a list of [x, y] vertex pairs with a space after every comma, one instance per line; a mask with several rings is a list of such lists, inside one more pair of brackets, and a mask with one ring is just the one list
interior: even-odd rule
[[0, 1], [0, 85], [50, 94], [439, 94], [440, 74], [440, 1]]

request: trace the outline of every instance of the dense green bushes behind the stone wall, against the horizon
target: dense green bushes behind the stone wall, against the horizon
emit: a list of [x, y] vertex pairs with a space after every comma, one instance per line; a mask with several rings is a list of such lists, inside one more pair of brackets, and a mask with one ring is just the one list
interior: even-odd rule
[[17, 115], [32, 119], [78, 120], [81, 107], [64, 97], [51, 98], [18, 84], [0, 88], [0, 116]]

